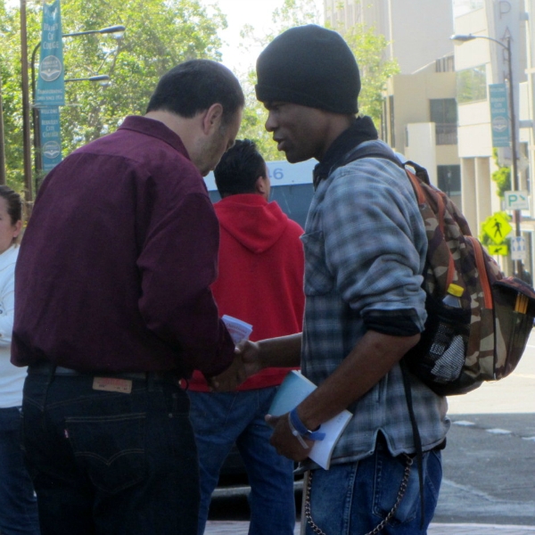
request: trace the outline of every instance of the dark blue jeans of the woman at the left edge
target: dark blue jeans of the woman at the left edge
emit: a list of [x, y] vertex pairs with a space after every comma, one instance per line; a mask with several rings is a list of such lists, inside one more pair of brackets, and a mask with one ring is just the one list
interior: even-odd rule
[[0, 531], [39, 535], [37, 499], [22, 457], [20, 407], [0, 408]]

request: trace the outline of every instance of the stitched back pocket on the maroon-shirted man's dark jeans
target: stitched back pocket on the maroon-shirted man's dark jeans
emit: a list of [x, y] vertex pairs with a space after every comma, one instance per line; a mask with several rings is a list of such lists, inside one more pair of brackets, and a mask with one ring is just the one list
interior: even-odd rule
[[142, 481], [147, 472], [144, 413], [66, 418], [78, 466], [110, 494]]

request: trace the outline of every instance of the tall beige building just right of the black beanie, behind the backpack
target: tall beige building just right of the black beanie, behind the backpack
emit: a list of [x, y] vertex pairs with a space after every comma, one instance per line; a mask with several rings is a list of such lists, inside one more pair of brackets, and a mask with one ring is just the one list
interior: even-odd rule
[[[460, 203], [452, 0], [325, 0], [325, 21], [342, 33], [373, 27], [400, 74], [386, 88], [381, 136]], [[437, 60], [437, 58], [440, 58]]]

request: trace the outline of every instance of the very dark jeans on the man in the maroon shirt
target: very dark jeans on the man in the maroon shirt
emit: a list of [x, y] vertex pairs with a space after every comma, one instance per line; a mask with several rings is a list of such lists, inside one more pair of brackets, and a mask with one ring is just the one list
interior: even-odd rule
[[93, 390], [89, 374], [29, 373], [23, 445], [43, 535], [195, 535], [188, 407], [172, 383], [136, 379], [128, 394]]

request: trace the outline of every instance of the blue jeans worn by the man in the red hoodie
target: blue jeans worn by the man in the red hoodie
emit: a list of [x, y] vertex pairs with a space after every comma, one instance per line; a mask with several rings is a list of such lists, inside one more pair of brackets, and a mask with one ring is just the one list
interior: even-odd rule
[[249, 476], [250, 535], [292, 535], [295, 526], [293, 463], [269, 444], [264, 421], [276, 387], [238, 392], [192, 392], [191, 418], [201, 470], [199, 535], [221, 465], [236, 444]]

